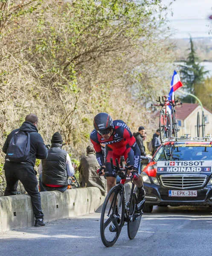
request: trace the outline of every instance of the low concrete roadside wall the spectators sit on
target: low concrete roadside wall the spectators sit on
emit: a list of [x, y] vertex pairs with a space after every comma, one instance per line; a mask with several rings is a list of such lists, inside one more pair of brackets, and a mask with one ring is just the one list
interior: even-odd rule
[[[94, 212], [104, 203], [105, 196], [97, 187], [41, 192], [44, 220], [52, 221]], [[0, 232], [32, 227], [35, 224], [29, 195], [0, 197]]]

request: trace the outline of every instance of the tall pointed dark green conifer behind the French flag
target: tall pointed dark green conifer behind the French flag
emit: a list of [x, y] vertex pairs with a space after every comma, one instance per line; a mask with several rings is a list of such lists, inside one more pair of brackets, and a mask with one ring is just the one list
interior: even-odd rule
[[[200, 65], [191, 37], [189, 50], [190, 52], [185, 61], [185, 65], [180, 66], [180, 77], [187, 92], [195, 94], [197, 88], [202, 86], [206, 79], [206, 74], [209, 71], [206, 71], [204, 67]], [[194, 103], [194, 98], [192, 96], [186, 96], [183, 98], [183, 101]]]

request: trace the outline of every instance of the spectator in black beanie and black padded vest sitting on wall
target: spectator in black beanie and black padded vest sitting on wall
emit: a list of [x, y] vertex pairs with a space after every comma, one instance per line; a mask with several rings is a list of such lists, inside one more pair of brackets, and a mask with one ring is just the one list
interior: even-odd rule
[[58, 190], [64, 192], [68, 186], [68, 176], [74, 175], [70, 156], [62, 149], [63, 139], [57, 131], [52, 135], [51, 148], [48, 150], [48, 157], [39, 165], [38, 173], [41, 175], [42, 186], [46, 191]]

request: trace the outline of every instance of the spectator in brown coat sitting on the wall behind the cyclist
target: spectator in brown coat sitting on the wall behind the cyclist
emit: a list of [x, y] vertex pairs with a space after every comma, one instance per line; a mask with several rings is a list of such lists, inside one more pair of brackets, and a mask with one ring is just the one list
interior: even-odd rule
[[87, 146], [86, 153], [86, 156], [81, 159], [78, 167], [80, 173], [80, 186], [96, 186], [102, 191], [102, 194], [105, 194], [106, 180], [105, 177], [102, 177], [102, 180], [100, 180], [99, 175], [97, 174], [97, 170], [100, 166], [96, 160], [96, 154], [93, 146]]

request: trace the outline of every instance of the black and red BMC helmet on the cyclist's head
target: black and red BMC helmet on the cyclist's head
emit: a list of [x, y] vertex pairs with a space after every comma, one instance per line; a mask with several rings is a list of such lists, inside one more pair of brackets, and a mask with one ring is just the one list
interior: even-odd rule
[[113, 130], [113, 120], [108, 113], [99, 113], [93, 119], [93, 127], [100, 135], [108, 134]]

